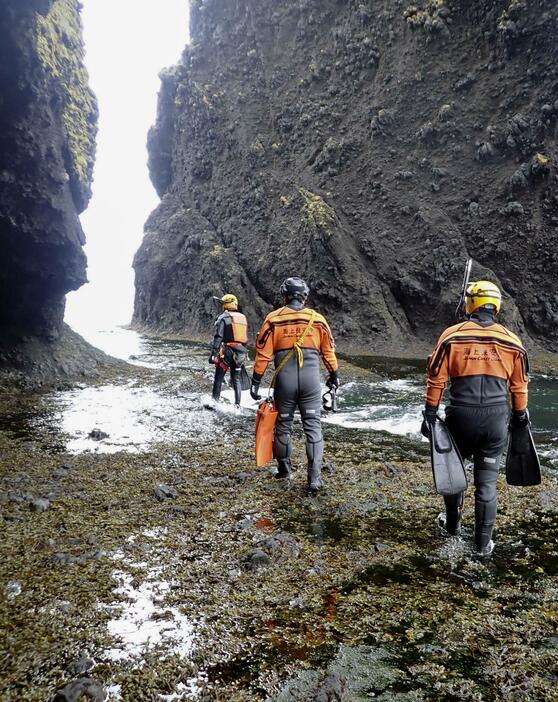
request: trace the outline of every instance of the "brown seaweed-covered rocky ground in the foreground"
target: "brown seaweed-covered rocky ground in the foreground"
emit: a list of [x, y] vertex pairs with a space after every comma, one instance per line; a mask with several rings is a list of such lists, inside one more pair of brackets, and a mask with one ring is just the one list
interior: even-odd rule
[[[170, 378], [110, 382], [164, 397]], [[327, 425], [310, 496], [300, 431], [277, 481], [254, 468], [246, 411], [218, 434], [70, 453], [44, 418], [25, 428], [38, 396], [0, 397], [0, 699], [557, 699], [551, 472], [501, 479], [479, 560], [472, 490], [463, 537], [443, 538], [416, 440]]]

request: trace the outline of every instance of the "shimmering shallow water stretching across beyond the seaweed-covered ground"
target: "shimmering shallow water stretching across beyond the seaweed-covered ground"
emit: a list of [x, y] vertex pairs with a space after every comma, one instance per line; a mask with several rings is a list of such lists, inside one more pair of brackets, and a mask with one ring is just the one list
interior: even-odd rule
[[[48, 393], [32, 412], [4, 418], [4, 428], [32, 439], [40, 437], [43, 446], [46, 440], [51, 448], [73, 453], [137, 452], [158, 442], [187, 438], [211, 441], [217, 433], [226, 434], [224, 428], [238, 425], [252, 431], [257, 403], [248, 391], [242, 393], [240, 412], [234, 409], [233, 392], [227, 386], [222, 401], [212, 403], [213, 369], [207, 363], [206, 345], [148, 338], [122, 328], [93, 332], [88, 340], [129, 363], [174, 371], [176, 380], [158, 390], [130, 381]], [[425, 441], [419, 432], [424, 363], [389, 358], [355, 360], [385, 377], [343, 384], [338, 392], [338, 411], [325, 415], [324, 423]], [[182, 389], [181, 377], [189, 372], [203, 374], [199, 392]], [[262, 388], [262, 394], [266, 392]], [[534, 376], [529, 407], [542, 462], [558, 468], [558, 379]], [[91, 436], [96, 429], [108, 436]]]

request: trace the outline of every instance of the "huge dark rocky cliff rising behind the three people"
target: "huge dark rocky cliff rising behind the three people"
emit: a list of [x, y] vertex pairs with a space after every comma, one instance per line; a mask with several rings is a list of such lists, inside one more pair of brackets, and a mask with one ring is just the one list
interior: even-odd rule
[[345, 346], [453, 319], [467, 256], [558, 350], [555, 0], [193, 0], [161, 75], [134, 323], [252, 323], [289, 275]]

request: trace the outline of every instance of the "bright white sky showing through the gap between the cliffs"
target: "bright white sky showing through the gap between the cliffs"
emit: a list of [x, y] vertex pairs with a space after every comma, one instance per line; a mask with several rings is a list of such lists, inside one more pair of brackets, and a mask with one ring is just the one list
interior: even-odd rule
[[93, 198], [82, 214], [89, 284], [68, 295], [77, 331], [127, 324], [132, 259], [157, 206], [146, 140], [155, 121], [159, 71], [188, 42], [188, 0], [83, 0], [86, 65], [99, 101]]

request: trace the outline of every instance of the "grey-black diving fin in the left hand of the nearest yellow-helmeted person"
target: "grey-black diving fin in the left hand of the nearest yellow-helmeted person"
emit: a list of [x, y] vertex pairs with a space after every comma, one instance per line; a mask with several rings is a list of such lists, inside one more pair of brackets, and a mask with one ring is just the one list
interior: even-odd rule
[[446, 423], [439, 417], [430, 424], [430, 458], [436, 492], [457, 495], [467, 489], [463, 460]]

